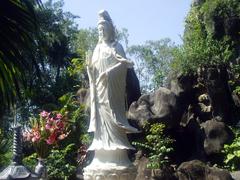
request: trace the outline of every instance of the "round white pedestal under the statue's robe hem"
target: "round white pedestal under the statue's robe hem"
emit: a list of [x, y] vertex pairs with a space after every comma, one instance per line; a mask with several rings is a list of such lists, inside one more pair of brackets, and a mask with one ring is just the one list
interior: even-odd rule
[[92, 163], [84, 168], [84, 180], [135, 180], [137, 169], [127, 150], [96, 150]]

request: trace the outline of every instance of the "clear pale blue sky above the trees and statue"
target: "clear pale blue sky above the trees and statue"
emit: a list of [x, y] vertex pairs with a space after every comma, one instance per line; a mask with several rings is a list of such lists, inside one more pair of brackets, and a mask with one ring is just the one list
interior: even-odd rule
[[64, 10], [79, 15], [79, 28], [96, 27], [106, 9], [118, 29], [126, 28], [129, 45], [169, 37], [181, 44], [184, 19], [192, 0], [65, 0]]

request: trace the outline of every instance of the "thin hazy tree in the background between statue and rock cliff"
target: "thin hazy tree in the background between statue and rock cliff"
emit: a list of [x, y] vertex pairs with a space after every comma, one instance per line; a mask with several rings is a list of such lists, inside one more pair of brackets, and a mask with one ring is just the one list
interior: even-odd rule
[[135, 70], [143, 91], [166, 85], [174, 49], [175, 45], [167, 38], [147, 41], [144, 45], [128, 48], [129, 55], [134, 59]]

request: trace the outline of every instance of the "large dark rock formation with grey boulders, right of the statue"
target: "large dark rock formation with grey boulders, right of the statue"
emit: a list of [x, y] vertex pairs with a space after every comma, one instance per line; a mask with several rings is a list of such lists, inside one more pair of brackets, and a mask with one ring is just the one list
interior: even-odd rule
[[196, 77], [180, 75], [169, 88], [144, 94], [129, 108], [129, 119], [140, 129], [145, 122], [166, 125], [167, 133], [176, 140], [176, 163], [211, 161], [209, 155], [218, 154], [233, 139], [227, 124], [236, 119], [237, 107], [227, 86], [226, 71], [212, 68], [199, 69]]

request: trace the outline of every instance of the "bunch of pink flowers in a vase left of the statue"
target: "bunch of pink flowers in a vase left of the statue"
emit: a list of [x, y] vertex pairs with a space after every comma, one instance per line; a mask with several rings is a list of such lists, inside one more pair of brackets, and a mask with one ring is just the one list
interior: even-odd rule
[[61, 113], [42, 111], [39, 118], [31, 119], [31, 129], [24, 132], [24, 140], [33, 143], [40, 158], [46, 158], [54, 145], [65, 139], [68, 121]]

